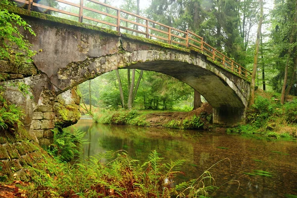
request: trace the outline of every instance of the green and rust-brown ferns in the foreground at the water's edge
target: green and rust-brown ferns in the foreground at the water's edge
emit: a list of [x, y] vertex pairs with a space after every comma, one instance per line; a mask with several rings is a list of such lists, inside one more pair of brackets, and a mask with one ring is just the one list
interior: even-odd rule
[[163, 158], [154, 150], [148, 155], [148, 161], [139, 164], [126, 152], [107, 151], [90, 157], [88, 163], [55, 163], [47, 159], [47, 164], [32, 175], [35, 185], [27, 188], [30, 198], [54, 197], [122, 197], [122, 198], [196, 198], [208, 196], [216, 189], [209, 170], [197, 180], [184, 182], [173, 187], [177, 175], [183, 174], [184, 160], [164, 163]]

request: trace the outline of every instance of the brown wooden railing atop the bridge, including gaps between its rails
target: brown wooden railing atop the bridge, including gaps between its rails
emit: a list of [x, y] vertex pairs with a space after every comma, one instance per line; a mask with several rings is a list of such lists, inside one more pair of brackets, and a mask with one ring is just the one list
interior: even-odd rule
[[[180, 47], [194, 47], [203, 52], [212, 61], [220, 64], [227, 70], [229, 69], [243, 78], [251, 78], [251, 72], [245, 67], [240, 66], [232, 59], [226, 57], [224, 54], [205, 43], [203, 41], [203, 37], [200, 37], [189, 30], [178, 30], [176, 28], [150, 20], [146, 17], [142, 17], [140, 15], [107, 5], [97, 0], [80, 0], [80, 4], [66, 0], [55, 0], [57, 2], [70, 5], [72, 10], [76, 9], [77, 13], [65, 11], [65, 8], [61, 6], [59, 6], [59, 8], [54, 8], [48, 5], [33, 2], [33, 0], [15, 1], [27, 4], [29, 10], [33, 10], [33, 7], [37, 7], [42, 10], [55, 11], [76, 17], [79, 22], [84, 21], [84, 23], [91, 24], [95, 22], [97, 23], [95, 25], [115, 29], [116, 31], [125, 30], [127, 33], [131, 32], [137, 36], [159, 40], [161, 42], [178, 45]], [[97, 9], [91, 8], [90, 6], [97, 7]], [[105, 11], [102, 11], [104, 9]], [[90, 13], [92, 13], [92, 16], [90, 16]], [[97, 18], [95, 18], [94, 15], [96, 15]]]

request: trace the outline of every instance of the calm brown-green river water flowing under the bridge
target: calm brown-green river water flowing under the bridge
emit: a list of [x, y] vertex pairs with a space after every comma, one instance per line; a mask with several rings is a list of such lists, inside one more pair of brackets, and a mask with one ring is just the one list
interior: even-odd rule
[[[282, 198], [297, 195], [297, 141], [271, 140], [243, 135], [194, 130], [175, 131], [131, 126], [108, 126], [81, 119], [76, 125], [85, 131], [90, 144], [84, 145], [83, 159], [107, 150], [128, 151], [129, 155], [147, 161], [151, 150], [170, 161], [185, 159], [186, 176], [177, 180], [198, 178], [216, 162], [210, 172], [216, 185], [223, 185], [213, 197], [222, 198]], [[260, 161], [258, 161], [260, 160]], [[247, 175], [260, 171], [268, 176]], [[270, 176], [270, 177], [269, 177]]]

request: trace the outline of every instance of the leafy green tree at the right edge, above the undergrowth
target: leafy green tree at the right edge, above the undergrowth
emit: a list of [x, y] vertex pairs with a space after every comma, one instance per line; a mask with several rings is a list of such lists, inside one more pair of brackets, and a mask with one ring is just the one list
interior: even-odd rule
[[[271, 37], [275, 54], [275, 67], [279, 70], [272, 82], [275, 89], [279, 90], [281, 86], [282, 104], [284, 104], [286, 95], [289, 93], [296, 78], [294, 76], [297, 56], [296, 7], [295, 0], [276, 0], [275, 8], [272, 11], [272, 25], [274, 29]], [[288, 89], [287, 91], [286, 88]]]

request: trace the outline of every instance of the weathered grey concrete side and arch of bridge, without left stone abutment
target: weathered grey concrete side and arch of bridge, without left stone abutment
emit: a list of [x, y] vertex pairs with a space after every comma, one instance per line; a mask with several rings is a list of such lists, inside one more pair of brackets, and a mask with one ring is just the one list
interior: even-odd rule
[[40, 51], [33, 57], [34, 65], [48, 77], [44, 89], [54, 96], [114, 69], [139, 68], [174, 76], [192, 86], [214, 108], [214, 123], [244, 121], [249, 82], [203, 54], [93, 26], [84, 28], [81, 23], [40, 13], [20, 13], [37, 34], [23, 32], [33, 50]]

